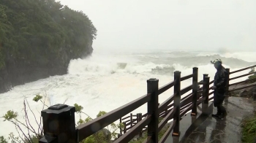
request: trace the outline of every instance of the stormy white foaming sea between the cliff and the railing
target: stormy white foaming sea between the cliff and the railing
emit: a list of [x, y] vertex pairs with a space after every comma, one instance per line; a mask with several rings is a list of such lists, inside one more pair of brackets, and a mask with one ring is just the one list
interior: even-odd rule
[[[256, 53], [209, 53], [187, 51], [146, 51], [131, 53], [93, 53], [90, 57], [70, 61], [68, 74], [48, 77], [12, 88], [0, 94], [0, 115], [8, 110], [18, 112], [18, 119], [23, 121], [23, 101], [29, 102], [37, 120], [40, 117], [42, 103], [32, 99], [36, 95], [46, 96], [45, 104], [68, 104], [83, 106], [83, 112], [96, 117], [99, 111], [110, 112], [146, 94], [146, 80], [159, 79], [159, 87], [173, 80], [173, 71], [181, 71], [181, 77], [192, 74], [192, 68], [198, 67], [198, 78], [208, 74], [214, 79], [216, 69], [210, 61], [221, 58], [223, 66], [230, 71], [256, 64]], [[246, 74], [250, 70], [239, 72]], [[238, 74], [232, 74], [235, 77]], [[238, 82], [247, 77], [233, 80]], [[231, 83], [232, 83], [231, 82]], [[181, 82], [181, 88], [191, 85], [192, 80]], [[159, 102], [173, 94], [173, 88], [159, 96]], [[146, 105], [133, 113], [146, 112]], [[37, 126], [34, 115], [29, 112], [31, 124]], [[82, 115], [86, 118], [86, 115]], [[79, 115], [76, 115], [78, 121]], [[0, 135], [7, 137], [17, 134], [15, 125], [0, 120]]]

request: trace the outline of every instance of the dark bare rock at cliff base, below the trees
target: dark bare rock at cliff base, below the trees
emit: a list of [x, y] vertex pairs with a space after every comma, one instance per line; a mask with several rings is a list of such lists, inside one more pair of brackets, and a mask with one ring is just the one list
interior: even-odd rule
[[61, 58], [48, 63], [31, 64], [29, 61], [15, 61], [9, 58], [6, 67], [0, 69], [0, 93], [11, 90], [16, 85], [23, 85], [27, 82], [44, 79], [54, 75], [67, 74], [67, 67], [72, 58], [83, 58], [91, 55], [93, 52], [92, 42], [89, 43], [89, 49], [80, 57], [73, 57], [66, 51], [61, 51]]

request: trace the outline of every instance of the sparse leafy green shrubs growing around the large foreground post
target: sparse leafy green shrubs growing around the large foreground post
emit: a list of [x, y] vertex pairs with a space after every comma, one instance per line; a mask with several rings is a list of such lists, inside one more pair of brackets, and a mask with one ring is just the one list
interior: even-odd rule
[[[44, 98], [43, 98], [44, 97]], [[42, 110], [45, 107], [48, 107], [45, 104], [45, 100], [46, 100], [46, 95], [45, 96], [40, 96], [37, 95], [33, 98], [33, 101], [40, 101], [42, 103]], [[67, 100], [66, 100], [67, 101]], [[76, 125], [80, 125], [86, 122], [89, 122], [90, 120], [92, 120], [92, 118], [87, 115], [85, 112], [83, 112], [83, 107], [78, 105], [78, 104], [74, 104], [75, 106], [75, 112], [77, 112], [78, 114], [80, 114], [80, 119], [78, 120], [78, 124]], [[2, 118], [4, 118], [4, 121], [9, 121], [10, 123], [12, 123], [13, 125], [15, 125], [15, 128], [18, 132], [18, 136], [15, 136], [13, 133], [9, 134], [8, 140], [12, 143], [37, 143], [39, 142], [39, 139], [42, 138], [43, 134], [43, 129], [42, 129], [42, 117], [38, 118], [34, 115], [34, 120], [36, 120], [37, 125], [36, 126], [32, 126], [31, 125], [31, 118], [29, 119], [28, 117], [28, 110], [31, 112], [31, 114], [34, 115], [34, 112], [31, 110], [31, 108], [29, 107], [29, 102], [26, 100], [26, 98], [23, 101], [23, 112], [24, 112], [24, 117], [25, 117], [25, 122], [21, 122], [20, 120], [18, 120], [18, 112], [14, 112], [12, 110], [7, 111], [7, 113], [2, 116]], [[81, 118], [81, 114], [86, 115], [86, 119], [82, 120]], [[105, 111], [100, 111], [97, 115], [97, 117], [100, 117], [102, 115], [105, 115], [106, 112]], [[25, 133], [23, 128], [26, 128], [26, 131], [28, 133]], [[119, 128], [124, 128], [124, 125], [122, 123], [111, 123], [110, 125], [107, 126], [107, 128], [102, 128], [102, 130], [98, 131], [97, 133], [87, 137], [86, 139], [83, 139], [83, 141], [81, 143], [108, 143], [111, 142], [111, 139], [117, 139], [118, 138], [118, 134], [116, 133], [116, 131]], [[7, 143], [7, 139], [4, 139], [4, 136], [0, 136], [0, 143]]]

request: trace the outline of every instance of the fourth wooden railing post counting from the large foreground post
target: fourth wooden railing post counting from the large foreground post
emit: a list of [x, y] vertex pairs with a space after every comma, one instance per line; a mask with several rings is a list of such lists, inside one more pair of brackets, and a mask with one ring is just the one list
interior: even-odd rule
[[193, 68], [193, 78], [192, 78], [192, 112], [191, 115], [197, 115], [197, 91], [198, 91], [198, 68]]

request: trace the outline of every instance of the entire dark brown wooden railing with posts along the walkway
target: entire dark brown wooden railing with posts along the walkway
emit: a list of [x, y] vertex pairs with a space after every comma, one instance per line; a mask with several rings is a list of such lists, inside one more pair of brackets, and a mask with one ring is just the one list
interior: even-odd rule
[[[256, 66], [256, 65], [255, 65]], [[250, 66], [238, 71], [243, 71], [250, 69], [255, 66]], [[230, 74], [236, 73], [238, 71], [227, 72]], [[250, 73], [254, 74], [254, 73]], [[245, 77], [250, 74], [244, 74], [238, 77], [229, 78], [227, 80], [227, 89], [229, 87], [229, 81], [237, 79], [239, 77]], [[181, 89], [181, 81], [188, 80], [192, 78], [192, 85]], [[114, 109], [111, 112], [97, 117], [94, 120], [78, 125], [75, 128], [75, 107], [69, 107], [63, 104], [57, 104], [48, 109], [42, 111], [43, 118], [43, 128], [45, 136], [40, 139], [39, 142], [80, 142], [86, 139], [88, 136], [95, 134], [97, 131], [105, 128], [107, 125], [116, 122], [117, 120], [129, 120], [124, 121], [125, 131], [116, 141], [117, 142], [129, 142], [134, 136], [141, 134], [142, 131], [147, 131], [148, 137], [144, 142], [165, 142], [167, 136], [173, 131], [173, 136], [179, 136], [180, 134], [180, 121], [181, 117], [191, 110], [191, 115], [197, 115], [197, 106], [199, 104], [208, 104], [213, 98], [209, 98], [211, 94], [209, 93], [210, 85], [214, 81], [210, 82], [210, 77], [208, 74], [203, 74], [203, 80], [198, 82], [198, 69], [193, 68], [193, 73], [187, 76], [181, 77], [180, 71], [174, 72], [174, 79], [172, 82], [167, 83], [167, 85], [159, 88], [157, 79], [147, 80], [147, 90], [148, 92], [141, 96], [140, 98], [131, 101], [118, 109]], [[241, 82], [238, 82], [241, 83]], [[236, 83], [236, 84], [238, 84]], [[203, 87], [200, 88], [200, 85]], [[232, 84], [234, 85], [234, 84]], [[246, 86], [244, 88], [249, 88]], [[255, 86], [255, 85], [254, 85]], [[162, 104], [159, 104], [159, 96], [166, 90], [173, 87], [173, 95], [167, 98]], [[192, 90], [187, 96], [181, 98], [181, 95]], [[235, 89], [237, 90], [237, 89]], [[172, 103], [173, 102], [173, 103]], [[145, 115], [137, 114], [132, 115], [131, 112], [143, 104], [147, 104], [147, 113]], [[203, 107], [203, 106], [202, 106]], [[206, 106], [205, 106], [206, 107]], [[131, 114], [128, 117], [124, 117]], [[136, 117], [133, 119], [133, 117]], [[159, 122], [159, 117], [163, 117], [162, 121]], [[167, 128], [167, 131], [158, 141], [158, 133], [167, 124], [169, 120], [173, 119], [172, 125]], [[129, 127], [127, 126], [129, 125]], [[65, 136], [63, 136], [65, 135]]]

